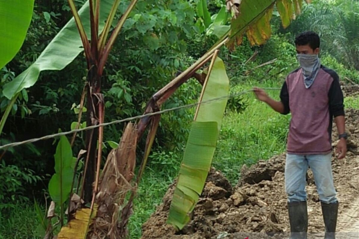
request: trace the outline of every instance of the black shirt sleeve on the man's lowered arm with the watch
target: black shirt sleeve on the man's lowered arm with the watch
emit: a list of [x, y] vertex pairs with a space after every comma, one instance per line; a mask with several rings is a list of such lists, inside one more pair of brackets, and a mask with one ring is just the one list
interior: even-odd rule
[[340, 89], [339, 76], [337, 73], [331, 74], [333, 82], [330, 86], [328, 97], [329, 97], [329, 109], [333, 114], [334, 118], [344, 113], [344, 97], [343, 92]]

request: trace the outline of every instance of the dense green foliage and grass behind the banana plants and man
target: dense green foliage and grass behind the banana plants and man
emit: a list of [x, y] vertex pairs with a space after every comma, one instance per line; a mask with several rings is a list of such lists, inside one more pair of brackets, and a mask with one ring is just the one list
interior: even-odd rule
[[[84, 0], [75, 1], [81, 6]], [[139, 1], [126, 21], [104, 71], [102, 92], [106, 100], [105, 121], [142, 114], [146, 102], [156, 91], [202, 56], [217, 40], [199, 28], [198, 1]], [[208, 9], [218, 13], [224, 1], [211, 1]], [[121, 1], [120, 13], [128, 1]], [[230, 78], [230, 94], [253, 86], [280, 87], [286, 74], [298, 67], [295, 59], [294, 37], [307, 29], [317, 30], [322, 37], [321, 60], [346, 77], [359, 83], [358, 41], [359, 7], [354, 0], [316, 0], [306, 6], [303, 14], [288, 29], [280, 25], [280, 18], [272, 19], [273, 35], [260, 47], [250, 47], [244, 38], [242, 46], [233, 52], [222, 48]], [[9, 100], [2, 87], [36, 60], [48, 42], [71, 16], [66, 0], [36, 1], [33, 19], [24, 45], [17, 56], [0, 70], [0, 108], [4, 113]], [[339, 27], [338, 27], [339, 26]], [[255, 53], [253, 61], [247, 60]], [[251, 70], [262, 63], [274, 63]], [[15, 102], [0, 144], [41, 137], [59, 130], [71, 129], [77, 121], [77, 108], [87, 72], [84, 56], [80, 54], [64, 70], [42, 72], [33, 87], [23, 90]], [[356, 70], [355, 70], [356, 69]], [[163, 109], [197, 101], [201, 86], [193, 78], [164, 104]], [[278, 99], [279, 91], [269, 94]], [[348, 107], [359, 108], [358, 98], [346, 99]], [[130, 219], [131, 238], [138, 238], [141, 225], [160, 203], [167, 186], [177, 176], [189, 125], [194, 109], [164, 114], [153, 152], [141, 179], [134, 215]], [[239, 94], [228, 100], [220, 139], [213, 165], [235, 184], [243, 164], [253, 164], [283, 152], [290, 116], [273, 114], [252, 94]], [[85, 120], [83, 119], [82, 122]], [[104, 129], [104, 142], [118, 142], [123, 125]], [[0, 239], [35, 238], [35, 197], [45, 207], [50, 200], [47, 186], [54, 174], [53, 156], [59, 139], [10, 148], [0, 152]], [[103, 157], [109, 144], [105, 144]], [[138, 148], [142, 154], [144, 142]], [[84, 148], [83, 134], [76, 138], [73, 152]], [[138, 157], [140, 158], [140, 157]], [[44, 197], [45, 195], [45, 197]], [[24, 206], [28, 205], [28, 206]], [[19, 221], [28, 225], [19, 227]]]

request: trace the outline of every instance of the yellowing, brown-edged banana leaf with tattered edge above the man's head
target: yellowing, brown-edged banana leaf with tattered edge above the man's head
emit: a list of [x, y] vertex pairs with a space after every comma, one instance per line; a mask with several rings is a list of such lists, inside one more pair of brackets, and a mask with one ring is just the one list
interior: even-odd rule
[[[310, 3], [311, 0], [306, 0]], [[261, 45], [271, 36], [270, 20], [276, 4], [283, 27], [286, 28], [295, 16], [300, 14], [303, 0], [242, 0], [239, 14], [232, 19], [229, 33], [229, 48], [242, 43], [243, 34], [247, 33], [252, 45]]]

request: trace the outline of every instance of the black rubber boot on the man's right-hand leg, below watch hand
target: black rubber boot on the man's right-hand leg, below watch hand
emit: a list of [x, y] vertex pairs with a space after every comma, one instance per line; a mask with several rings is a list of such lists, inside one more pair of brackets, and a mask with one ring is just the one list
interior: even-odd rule
[[323, 219], [325, 224], [325, 239], [335, 239], [335, 228], [338, 217], [339, 203], [324, 203], [321, 202]]

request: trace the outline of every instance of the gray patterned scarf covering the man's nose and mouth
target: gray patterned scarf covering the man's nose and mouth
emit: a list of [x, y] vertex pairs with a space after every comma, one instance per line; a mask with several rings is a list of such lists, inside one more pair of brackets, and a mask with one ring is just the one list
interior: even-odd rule
[[304, 85], [308, 89], [313, 84], [320, 70], [320, 59], [317, 54], [297, 54], [302, 68]]

